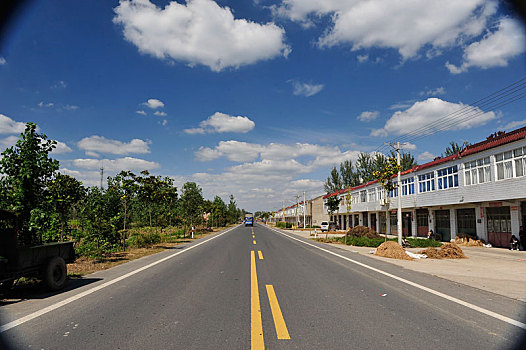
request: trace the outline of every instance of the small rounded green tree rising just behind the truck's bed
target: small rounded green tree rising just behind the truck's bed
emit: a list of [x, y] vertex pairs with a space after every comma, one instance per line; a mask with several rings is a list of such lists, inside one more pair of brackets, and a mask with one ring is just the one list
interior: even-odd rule
[[65, 226], [72, 208], [82, 199], [86, 189], [74, 177], [56, 174], [48, 184], [48, 202], [54, 207], [60, 221], [60, 241], [64, 240]]

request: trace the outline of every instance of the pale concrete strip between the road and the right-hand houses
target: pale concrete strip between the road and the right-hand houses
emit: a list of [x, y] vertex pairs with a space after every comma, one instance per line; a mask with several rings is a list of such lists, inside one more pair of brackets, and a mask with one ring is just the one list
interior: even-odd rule
[[[291, 231], [298, 236], [311, 238], [309, 231]], [[314, 232], [314, 231], [313, 231]], [[329, 235], [332, 236], [332, 235]], [[334, 236], [343, 236], [334, 235]], [[325, 234], [318, 233], [318, 238]], [[398, 265], [408, 270], [428, 273], [450, 281], [483, 289], [492, 293], [526, 302], [526, 251], [510, 251], [505, 248], [461, 247], [468, 259], [419, 259], [398, 260], [370, 254], [374, 248], [333, 244], [340, 249], [367, 255]], [[416, 253], [423, 248], [409, 248]]]

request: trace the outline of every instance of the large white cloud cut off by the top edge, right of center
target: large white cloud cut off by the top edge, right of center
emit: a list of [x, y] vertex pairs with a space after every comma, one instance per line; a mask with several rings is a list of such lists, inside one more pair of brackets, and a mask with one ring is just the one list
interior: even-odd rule
[[480, 35], [496, 9], [491, 0], [283, 0], [274, 7], [278, 15], [311, 25], [331, 16], [320, 47], [392, 48], [403, 59], [417, 56], [423, 47], [439, 52]]

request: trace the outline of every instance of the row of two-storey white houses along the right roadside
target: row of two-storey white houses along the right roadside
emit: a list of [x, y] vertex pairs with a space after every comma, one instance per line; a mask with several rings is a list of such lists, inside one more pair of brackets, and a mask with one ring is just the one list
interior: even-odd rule
[[[332, 196], [339, 197], [340, 207], [329, 213], [326, 200]], [[526, 224], [526, 127], [492, 134], [452, 156], [404, 171], [391, 193], [371, 181], [281, 208], [273, 220], [302, 225], [305, 212], [306, 225], [330, 220], [343, 230], [362, 225], [396, 233], [398, 196], [405, 236], [433, 230], [443, 241], [467, 234], [507, 247]]]

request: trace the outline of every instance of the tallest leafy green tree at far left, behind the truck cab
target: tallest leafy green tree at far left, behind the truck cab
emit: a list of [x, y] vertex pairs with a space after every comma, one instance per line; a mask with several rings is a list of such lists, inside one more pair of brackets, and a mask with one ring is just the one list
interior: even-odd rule
[[31, 212], [45, 201], [47, 184], [59, 168], [59, 162], [49, 157], [56, 141], [37, 133], [34, 123], [27, 123], [16, 145], [2, 152], [0, 179], [5, 209], [19, 213], [18, 241], [31, 245], [41, 237], [30, 228]]

